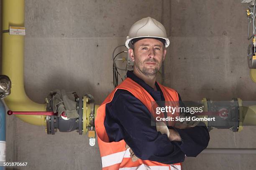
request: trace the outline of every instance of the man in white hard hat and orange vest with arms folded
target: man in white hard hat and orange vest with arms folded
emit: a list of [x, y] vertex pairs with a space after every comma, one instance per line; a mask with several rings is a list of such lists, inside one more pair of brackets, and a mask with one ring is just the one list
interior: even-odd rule
[[175, 90], [156, 82], [168, 45], [157, 20], [148, 17], [132, 25], [125, 46], [134, 70], [108, 95], [95, 119], [102, 170], [180, 170], [185, 155], [196, 157], [207, 147], [210, 136], [204, 124], [151, 125], [152, 101], [181, 102]]

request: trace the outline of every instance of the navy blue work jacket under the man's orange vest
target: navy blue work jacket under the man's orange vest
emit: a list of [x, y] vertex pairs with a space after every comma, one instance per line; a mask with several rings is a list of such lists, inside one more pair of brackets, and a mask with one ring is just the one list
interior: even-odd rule
[[[141, 85], [155, 101], [165, 101], [157, 83], [157, 90], [154, 90], [132, 71], [127, 72], [127, 77]], [[179, 101], [180, 106], [184, 105], [180, 96]], [[113, 100], [106, 105], [104, 125], [110, 142], [125, 140], [138, 158], [165, 164], [183, 162], [185, 155], [196, 157], [210, 140], [204, 124], [189, 129], [168, 127], [176, 130], [182, 139], [181, 142], [170, 141], [166, 134], [162, 135], [151, 126], [151, 113], [147, 107], [122, 89], [118, 89]]]

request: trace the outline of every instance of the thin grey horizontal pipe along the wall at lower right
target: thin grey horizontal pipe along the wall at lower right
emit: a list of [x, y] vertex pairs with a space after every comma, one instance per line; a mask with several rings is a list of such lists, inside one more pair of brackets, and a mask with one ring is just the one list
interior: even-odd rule
[[205, 149], [202, 154], [253, 154], [256, 155], [256, 149]]

